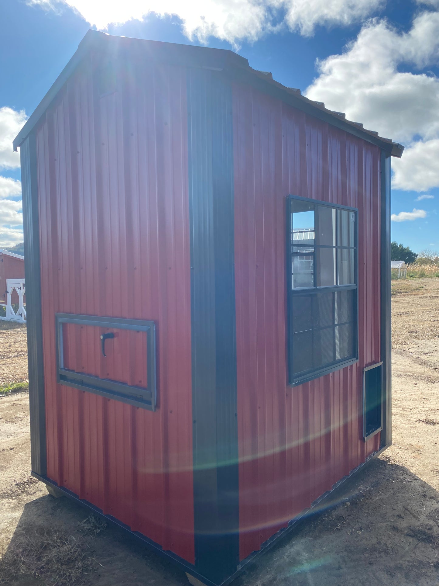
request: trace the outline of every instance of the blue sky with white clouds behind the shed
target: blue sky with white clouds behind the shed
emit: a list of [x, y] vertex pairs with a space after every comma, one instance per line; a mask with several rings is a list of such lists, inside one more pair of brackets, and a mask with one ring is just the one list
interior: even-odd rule
[[392, 159], [392, 237], [439, 250], [438, 11], [439, 0], [2, 2], [0, 248], [22, 240], [19, 157], [8, 144], [87, 30], [98, 28], [236, 50], [255, 69], [402, 142], [402, 160]]

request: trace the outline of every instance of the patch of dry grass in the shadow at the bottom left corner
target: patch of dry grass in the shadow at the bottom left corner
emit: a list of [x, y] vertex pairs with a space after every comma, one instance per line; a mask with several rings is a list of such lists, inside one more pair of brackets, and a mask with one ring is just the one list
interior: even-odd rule
[[53, 586], [81, 586], [97, 569], [87, 538], [44, 529], [23, 535], [1, 555], [0, 584], [25, 574]]

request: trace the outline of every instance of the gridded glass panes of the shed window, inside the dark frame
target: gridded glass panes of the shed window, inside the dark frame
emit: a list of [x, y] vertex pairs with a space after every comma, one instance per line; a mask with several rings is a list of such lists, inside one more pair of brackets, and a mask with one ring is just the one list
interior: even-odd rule
[[356, 357], [356, 213], [290, 201], [290, 376], [300, 382]]

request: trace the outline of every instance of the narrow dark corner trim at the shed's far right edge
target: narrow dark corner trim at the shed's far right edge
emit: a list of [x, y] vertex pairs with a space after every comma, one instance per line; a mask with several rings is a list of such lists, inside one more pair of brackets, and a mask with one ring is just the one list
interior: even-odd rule
[[383, 431], [381, 445], [392, 443], [392, 281], [390, 259], [390, 156], [381, 151], [381, 360]]

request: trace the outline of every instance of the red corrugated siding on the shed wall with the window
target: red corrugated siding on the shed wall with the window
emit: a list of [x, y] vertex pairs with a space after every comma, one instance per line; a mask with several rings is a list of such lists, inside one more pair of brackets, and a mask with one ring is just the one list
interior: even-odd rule
[[[380, 152], [234, 86], [240, 558], [379, 448], [362, 441], [362, 369], [380, 360]], [[359, 209], [359, 363], [286, 385], [285, 202]]]

